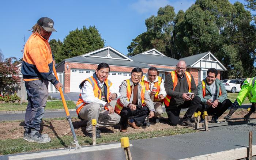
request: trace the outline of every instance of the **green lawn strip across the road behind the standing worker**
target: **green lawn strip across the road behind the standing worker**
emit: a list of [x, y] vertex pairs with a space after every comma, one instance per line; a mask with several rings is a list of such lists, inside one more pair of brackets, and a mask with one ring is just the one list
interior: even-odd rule
[[[69, 109], [76, 108], [75, 103], [71, 100], [66, 101]], [[27, 103], [1, 103], [0, 111], [25, 111], [27, 108]], [[63, 103], [61, 100], [50, 101], [46, 103], [45, 110], [54, 110], [54, 109], [64, 109]]]

